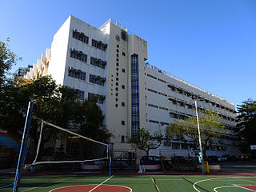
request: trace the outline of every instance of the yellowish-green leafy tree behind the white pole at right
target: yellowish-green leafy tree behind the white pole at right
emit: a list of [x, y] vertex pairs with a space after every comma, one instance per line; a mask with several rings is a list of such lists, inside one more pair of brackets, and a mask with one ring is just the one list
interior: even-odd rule
[[[221, 118], [211, 110], [202, 112], [202, 117], [198, 118], [202, 141], [203, 155], [206, 157], [206, 149], [216, 142], [222, 142], [222, 134], [229, 133], [225, 126], [221, 124]], [[198, 124], [196, 117], [189, 117], [186, 120], [174, 120], [170, 126], [166, 127], [166, 140], [178, 139], [183, 142], [192, 142], [194, 148], [198, 146]]]

